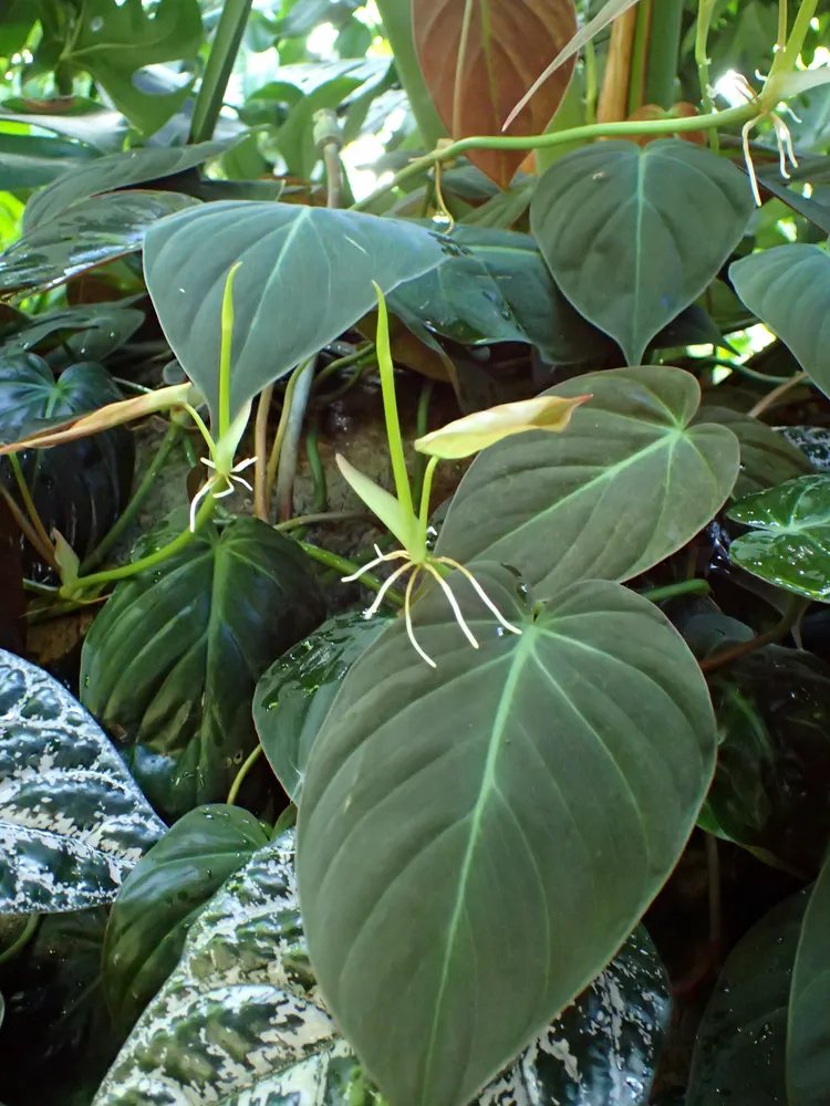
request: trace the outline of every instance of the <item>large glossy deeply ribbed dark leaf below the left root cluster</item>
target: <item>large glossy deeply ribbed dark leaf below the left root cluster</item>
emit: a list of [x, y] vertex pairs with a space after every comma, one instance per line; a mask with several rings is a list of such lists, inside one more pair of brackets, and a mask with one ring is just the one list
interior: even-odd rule
[[[174, 518], [136, 555], [183, 524]], [[257, 680], [323, 617], [309, 564], [263, 522], [237, 519], [120, 584], [93, 623], [82, 700], [129, 747], [134, 775], [166, 815], [224, 800], [256, 745]]]

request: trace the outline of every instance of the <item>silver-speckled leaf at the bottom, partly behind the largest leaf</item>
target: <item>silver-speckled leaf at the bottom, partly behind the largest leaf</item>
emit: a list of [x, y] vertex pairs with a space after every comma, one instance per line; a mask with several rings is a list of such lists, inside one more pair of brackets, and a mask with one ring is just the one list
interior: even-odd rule
[[[645, 930], [477, 1099], [477, 1106], [639, 1106], [668, 1020]], [[380, 1104], [308, 962], [293, 831], [259, 849], [194, 924], [93, 1106]]]

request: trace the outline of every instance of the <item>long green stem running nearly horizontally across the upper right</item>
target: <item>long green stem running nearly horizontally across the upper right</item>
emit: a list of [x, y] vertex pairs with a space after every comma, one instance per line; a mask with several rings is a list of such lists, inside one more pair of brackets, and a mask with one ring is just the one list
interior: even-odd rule
[[712, 131], [714, 127], [728, 127], [738, 123], [746, 123], [758, 114], [758, 105], [739, 104], [737, 107], [729, 107], [725, 112], [714, 112], [710, 115], [695, 115], [691, 118], [679, 119], [636, 119], [632, 123], [595, 123], [584, 127], [573, 127], [570, 131], [554, 131], [544, 135], [531, 135], [528, 138], [507, 138], [505, 136], [480, 136], [475, 138], [461, 138], [450, 146], [434, 149], [424, 157], [416, 157], [405, 168], [396, 173], [385, 185], [375, 189], [360, 204], [354, 204], [350, 210], [364, 211], [371, 207], [375, 200], [386, 192], [397, 188], [398, 185], [417, 177], [421, 173], [426, 173], [434, 165], [446, 161], [454, 161], [468, 149], [550, 149], [554, 146], [564, 146], [568, 143], [590, 142], [593, 138], [636, 138], [640, 135], [652, 135], [653, 137], [685, 134], [689, 131]]

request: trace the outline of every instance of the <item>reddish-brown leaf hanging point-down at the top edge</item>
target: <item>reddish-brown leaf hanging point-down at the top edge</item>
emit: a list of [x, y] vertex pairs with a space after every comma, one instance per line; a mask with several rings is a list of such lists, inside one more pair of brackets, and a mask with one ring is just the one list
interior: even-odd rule
[[[513, 105], [577, 33], [573, 0], [413, 0], [415, 48], [429, 93], [453, 138], [498, 135]], [[575, 56], [510, 125], [541, 134], [568, 90]], [[527, 150], [470, 150], [507, 188]]]

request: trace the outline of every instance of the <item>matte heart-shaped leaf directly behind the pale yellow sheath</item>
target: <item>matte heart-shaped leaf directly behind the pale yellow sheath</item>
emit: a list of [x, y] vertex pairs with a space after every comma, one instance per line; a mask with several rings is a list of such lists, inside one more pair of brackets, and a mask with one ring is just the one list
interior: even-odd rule
[[580, 376], [549, 395], [593, 398], [563, 434], [486, 449], [455, 494], [437, 552], [515, 565], [542, 596], [574, 580], [629, 580], [686, 544], [723, 505], [738, 442], [689, 426], [697, 382], [677, 368]]

